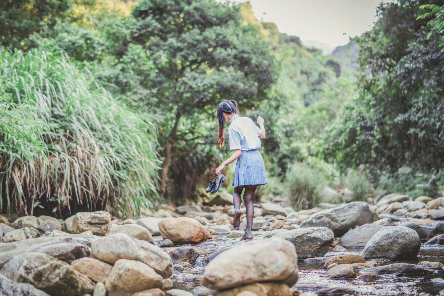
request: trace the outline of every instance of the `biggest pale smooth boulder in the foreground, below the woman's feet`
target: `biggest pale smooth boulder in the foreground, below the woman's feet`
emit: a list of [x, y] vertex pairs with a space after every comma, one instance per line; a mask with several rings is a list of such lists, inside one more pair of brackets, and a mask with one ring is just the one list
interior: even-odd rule
[[291, 287], [297, 279], [294, 245], [271, 237], [252, 240], [220, 253], [208, 263], [202, 284], [210, 289], [224, 290], [243, 284], [282, 281]]

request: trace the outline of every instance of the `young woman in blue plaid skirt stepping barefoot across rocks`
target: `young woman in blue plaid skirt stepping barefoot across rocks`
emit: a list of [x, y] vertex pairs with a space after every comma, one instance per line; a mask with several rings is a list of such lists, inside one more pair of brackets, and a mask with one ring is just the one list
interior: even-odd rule
[[233, 204], [234, 204], [234, 229], [239, 229], [241, 217], [241, 194], [244, 191], [244, 202], [246, 206], [247, 225], [246, 230], [241, 238], [242, 240], [252, 239], [251, 227], [253, 226], [253, 195], [258, 185], [267, 183], [265, 176], [265, 166], [262, 155], [258, 149], [261, 147], [260, 138], [265, 138], [264, 119], [259, 116], [257, 122], [260, 126], [256, 126], [248, 117], [241, 117], [238, 112], [238, 105], [236, 101], [223, 101], [218, 106], [216, 119], [219, 122], [219, 147], [223, 147], [225, 136], [225, 122], [229, 121], [228, 137], [230, 142], [230, 150], [234, 150], [233, 155], [225, 162], [222, 162], [216, 169], [216, 174], [219, 174], [223, 168], [234, 162], [236, 159], [236, 171], [234, 172], [233, 186]]

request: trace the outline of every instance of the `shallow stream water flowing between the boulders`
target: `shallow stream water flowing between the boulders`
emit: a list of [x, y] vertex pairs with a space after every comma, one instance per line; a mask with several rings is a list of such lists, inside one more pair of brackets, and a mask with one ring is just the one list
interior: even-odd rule
[[[268, 231], [254, 231], [254, 239], [262, 239]], [[221, 235], [218, 239], [208, 241], [192, 246], [201, 256], [196, 260], [192, 270], [184, 272], [174, 272], [171, 278], [174, 282], [174, 288], [191, 291], [194, 287], [200, 285], [202, 274], [206, 268], [207, 257], [226, 247], [236, 243], [242, 237], [243, 231], [235, 231], [227, 235]], [[341, 255], [344, 253], [359, 253], [361, 249], [353, 249], [346, 252], [328, 252], [325, 257]], [[391, 261], [389, 263], [405, 262], [417, 263], [420, 261], [432, 261], [444, 263], [444, 245], [422, 245], [416, 261]], [[366, 282], [360, 279], [353, 280], [334, 280], [322, 277], [325, 270], [322, 269], [323, 262], [307, 262], [300, 260], [299, 280], [293, 287], [301, 291], [302, 296], [317, 295], [316, 291], [321, 288], [349, 288], [354, 293], [347, 295], [439, 295], [444, 289], [444, 273], [439, 270], [432, 275], [402, 275], [402, 274], [383, 274], [376, 281]], [[185, 279], [188, 274], [194, 275], [194, 280]], [[187, 281], [189, 280], [189, 281]], [[343, 295], [336, 294], [336, 295]]]

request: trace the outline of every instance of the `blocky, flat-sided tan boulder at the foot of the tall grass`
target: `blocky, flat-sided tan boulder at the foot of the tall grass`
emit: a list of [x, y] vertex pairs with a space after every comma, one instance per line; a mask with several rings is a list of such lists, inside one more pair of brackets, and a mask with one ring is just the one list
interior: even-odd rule
[[93, 234], [104, 235], [111, 229], [111, 215], [105, 211], [76, 213], [72, 231], [82, 233], [91, 230]]

